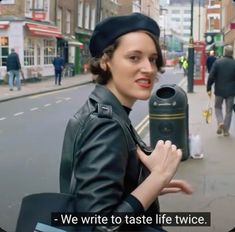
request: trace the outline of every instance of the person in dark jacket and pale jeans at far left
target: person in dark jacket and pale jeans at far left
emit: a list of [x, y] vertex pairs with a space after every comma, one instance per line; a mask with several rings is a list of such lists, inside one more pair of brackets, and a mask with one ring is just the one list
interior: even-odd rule
[[17, 90], [21, 90], [21, 81], [20, 81], [20, 70], [21, 64], [18, 54], [15, 52], [15, 49], [11, 49], [11, 53], [7, 57], [7, 73], [8, 73], [8, 85], [9, 90], [13, 91], [14, 82], [16, 82]]

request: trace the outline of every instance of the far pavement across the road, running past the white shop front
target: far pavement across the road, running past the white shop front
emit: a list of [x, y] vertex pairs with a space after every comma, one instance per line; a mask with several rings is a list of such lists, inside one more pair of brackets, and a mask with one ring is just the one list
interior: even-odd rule
[[14, 91], [9, 91], [8, 85], [0, 85], [0, 102], [35, 95], [39, 93], [46, 93], [51, 91], [57, 91], [60, 89], [71, 88], [73, 86], [86, 84], [91, 81], [91, 74], [81, 74], [76, 75], [74, 77], [62, 78], [60, 86], [55, 85], [53, 77], [39, 82], [22, 83], [20, 91], [18, 91], [16, 87], [14, 88]]

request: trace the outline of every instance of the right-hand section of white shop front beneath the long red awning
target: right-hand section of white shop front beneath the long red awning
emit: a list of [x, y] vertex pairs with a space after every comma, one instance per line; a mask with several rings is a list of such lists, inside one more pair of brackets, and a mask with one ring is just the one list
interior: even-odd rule
[[26, 78], [54, 75], [52, 61], [57, 52], [57, 38], [61, 37], [57, 27], [25, 23], [23, 66]]

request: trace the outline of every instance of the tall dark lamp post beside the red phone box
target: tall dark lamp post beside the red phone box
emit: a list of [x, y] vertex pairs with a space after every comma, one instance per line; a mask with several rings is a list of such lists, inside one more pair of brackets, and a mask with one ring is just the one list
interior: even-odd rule
[[194, 46], [193, 46], [193, 1], [191, 0], [191, 27], [188, 46], [188, 93], [193, 92]]

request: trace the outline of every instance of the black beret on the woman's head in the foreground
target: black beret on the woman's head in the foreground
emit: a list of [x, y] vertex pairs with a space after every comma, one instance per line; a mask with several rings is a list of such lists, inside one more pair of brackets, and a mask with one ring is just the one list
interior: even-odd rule
[[99, 57], [103, 50], [111, 45], [118, 37], [133, 31], [148, 31], [157, 38], [160, 28], [152, 18], [133, 13], [125, 16], [112, 16], [98, 23], [90, 39], [89, 49], [92, 57]]

